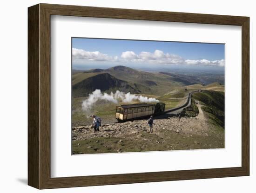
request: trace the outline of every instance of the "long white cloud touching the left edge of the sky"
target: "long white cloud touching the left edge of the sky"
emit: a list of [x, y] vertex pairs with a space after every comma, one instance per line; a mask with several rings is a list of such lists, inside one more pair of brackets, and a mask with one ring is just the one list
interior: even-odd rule
[[103, 54], [99, 51], [84, 51], [81, 49], [72, 48], [72, 57], [76, 59], [86, 59], [93, 61], [106, 61], [116, 59], [108, 56], [108, 54]]

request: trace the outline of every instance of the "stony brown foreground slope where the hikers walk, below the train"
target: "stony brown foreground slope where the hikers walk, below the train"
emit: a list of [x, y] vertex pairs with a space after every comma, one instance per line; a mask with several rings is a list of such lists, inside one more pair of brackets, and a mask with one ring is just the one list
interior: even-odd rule
[[224, 148], [224, 130], [197, 105], [196, 117], [155, 119], [152, 134], [147, 120], [102, 124], [96, 133], [90, 125], [74, 127], [73, 154]]

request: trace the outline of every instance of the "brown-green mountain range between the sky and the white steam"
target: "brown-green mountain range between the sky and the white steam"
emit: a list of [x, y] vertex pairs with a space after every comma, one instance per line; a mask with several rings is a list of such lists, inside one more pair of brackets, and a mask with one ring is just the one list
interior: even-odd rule
[[168, 72], [138, 71], [126, 66], [115, 66], [108, 69], [91, 69], [72, 71], [73, 96], [88, 96], [95, 89], [104, 92], [131, 92], [162, 96], [169, 90], [198, 84], [192, 76], [176, 75]]

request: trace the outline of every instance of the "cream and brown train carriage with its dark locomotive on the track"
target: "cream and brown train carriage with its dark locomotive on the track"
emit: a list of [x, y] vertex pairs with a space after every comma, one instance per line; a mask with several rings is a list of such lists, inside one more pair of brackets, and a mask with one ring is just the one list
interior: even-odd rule
[[165, 103], [121, 105], [116, 107], [115, 118], [120, 122], [134, 120], [151, 115], [162, 114], [164, 109]]

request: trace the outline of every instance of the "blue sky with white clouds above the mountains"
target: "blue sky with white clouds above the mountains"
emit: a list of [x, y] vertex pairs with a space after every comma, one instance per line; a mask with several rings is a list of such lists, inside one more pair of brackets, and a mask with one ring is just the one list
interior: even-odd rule
[[72, 38], [73, 65], [224, 66], [224, 44]]

